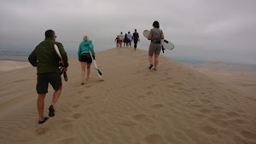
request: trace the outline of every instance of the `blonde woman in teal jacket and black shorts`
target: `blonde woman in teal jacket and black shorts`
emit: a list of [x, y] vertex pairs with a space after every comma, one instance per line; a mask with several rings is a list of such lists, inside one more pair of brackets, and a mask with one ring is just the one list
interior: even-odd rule
[[[91, 40], [89, 40], [88, 36], [83, 37], [84, 41], [80, 43], [79, 45], [79, 61], [81, 63], [81, 78], [82, 78], [82, 85], [84, 85], [84, 73], [85, 73], [85, 66], [87, 65], [87, 77], [86, 81], [89, 80], [90, 76], [90, 64], [92, 62], [92, 59], [90, 57], [90, 52], [92, 53], [93, 56], [95, 56], [95, 52], [93, 50], [93, 44]], [[90, 50], [90, 51], [89, 51]]]

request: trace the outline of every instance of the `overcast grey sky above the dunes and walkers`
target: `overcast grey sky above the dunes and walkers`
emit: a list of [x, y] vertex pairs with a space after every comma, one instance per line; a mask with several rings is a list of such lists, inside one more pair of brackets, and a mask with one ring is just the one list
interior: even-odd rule
[[[34, 49], [44, 32], [75, 54], [84, 35], [96, 51], [115, 47], [119, 32], [140, 34], [160, 22], [175, 49], [174, 60], [218, 60], [256, 64], [254, 0], [0, 0], [0, 48]], [[73, 52], [73, 53], [72, 53]]]

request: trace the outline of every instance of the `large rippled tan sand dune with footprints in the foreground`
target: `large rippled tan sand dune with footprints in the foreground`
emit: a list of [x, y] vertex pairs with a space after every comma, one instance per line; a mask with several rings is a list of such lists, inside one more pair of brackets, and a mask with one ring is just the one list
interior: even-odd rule
[[[0, 143], [255, 144], [256, 97], [160, 55], [148, 70], [147, 51], [96, 53], [102, 78], [69, 59], [68, 82], [55, 117], [37, 124], [36, 68], [1, 72]], [[49, 86], [44, 115], [53, 95]]]

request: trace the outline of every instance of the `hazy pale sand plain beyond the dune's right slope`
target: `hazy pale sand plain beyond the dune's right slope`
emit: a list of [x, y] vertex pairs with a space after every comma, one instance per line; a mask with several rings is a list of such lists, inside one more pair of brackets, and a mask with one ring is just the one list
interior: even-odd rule
[[234, 65], [225, 62], [184, 63], [184, 65], [239, 90], [243, 96], [256, 97], [256, 66]]

